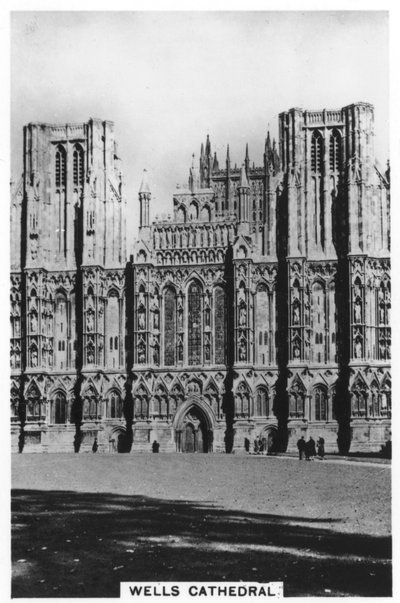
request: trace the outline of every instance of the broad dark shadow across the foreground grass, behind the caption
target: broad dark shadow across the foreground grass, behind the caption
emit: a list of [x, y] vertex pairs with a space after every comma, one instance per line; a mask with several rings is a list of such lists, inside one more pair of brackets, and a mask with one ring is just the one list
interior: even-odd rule
[[120, 582], [282, 580], [286, 596], [390, 596], [391, 539], [340, 519], [14, 490], [13, 597], [118, 597]]

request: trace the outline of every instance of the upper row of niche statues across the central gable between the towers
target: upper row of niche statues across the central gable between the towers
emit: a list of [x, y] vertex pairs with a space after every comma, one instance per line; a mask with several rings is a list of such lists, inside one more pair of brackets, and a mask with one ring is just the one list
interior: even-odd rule
[[154, 249], [226, 246], [235, 235], [234, 226], [196, 226], [195, 228], [155, 228]]

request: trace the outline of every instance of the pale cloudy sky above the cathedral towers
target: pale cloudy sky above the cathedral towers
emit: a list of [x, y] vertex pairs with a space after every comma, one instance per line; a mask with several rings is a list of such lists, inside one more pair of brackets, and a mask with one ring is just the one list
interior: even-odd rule
[[[210, 135], [241, 165], [260, 165], [268, 127], [290, 107], [375, 105], [375, 150], [388, 158], [385, 12], [18, 12], [11, 17], [12, 176], [29, 121], [115, 122], [126, 196], [137, 219], [142, 170], [151, 213]], [[136, 235], [133, 227], [130, 239]]]

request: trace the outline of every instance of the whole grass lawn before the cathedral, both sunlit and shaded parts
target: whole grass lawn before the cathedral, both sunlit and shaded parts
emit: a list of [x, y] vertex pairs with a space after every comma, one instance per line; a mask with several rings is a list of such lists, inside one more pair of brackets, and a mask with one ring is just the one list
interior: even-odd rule
[[14, 597], [282, 580], [390, 596], [390, 467], [223, 454], [12, 457]]

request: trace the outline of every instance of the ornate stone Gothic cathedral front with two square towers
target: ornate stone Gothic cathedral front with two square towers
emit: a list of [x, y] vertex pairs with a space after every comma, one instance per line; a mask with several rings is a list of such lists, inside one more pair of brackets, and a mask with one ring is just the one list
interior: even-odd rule
[[11, 198], [15, 451], [379, 451], [391, 439], [389, 168], [374, 112], [290, 109], [256, 166], [209, 138], [134, 254], [112, 122], [30, 123]]

